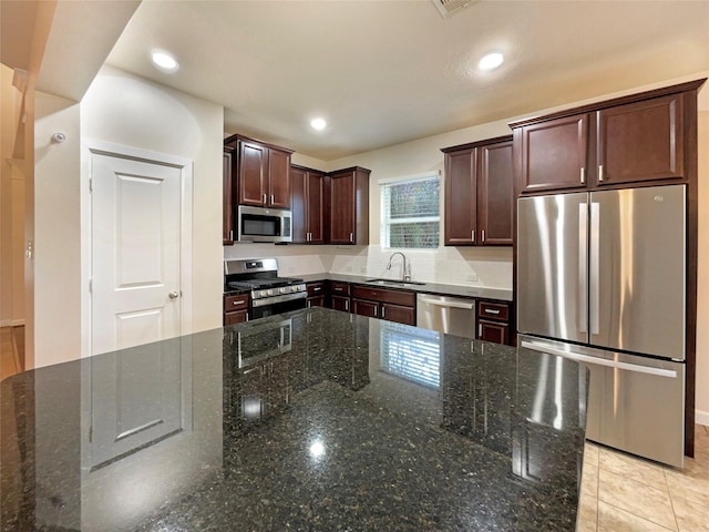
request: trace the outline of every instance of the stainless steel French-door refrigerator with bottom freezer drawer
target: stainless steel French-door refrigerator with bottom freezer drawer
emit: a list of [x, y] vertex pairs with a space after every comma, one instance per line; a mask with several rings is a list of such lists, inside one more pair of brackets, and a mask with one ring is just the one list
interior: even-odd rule
[[522, 197], [518, 345], [590, 372], [586, 437], [681, 467], [686, 187]]

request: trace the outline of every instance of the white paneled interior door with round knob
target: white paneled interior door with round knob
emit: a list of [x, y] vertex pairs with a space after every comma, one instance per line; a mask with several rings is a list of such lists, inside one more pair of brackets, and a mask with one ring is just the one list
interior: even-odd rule
[[181, 334], [181, 167], [92, 153], [93, 355]]

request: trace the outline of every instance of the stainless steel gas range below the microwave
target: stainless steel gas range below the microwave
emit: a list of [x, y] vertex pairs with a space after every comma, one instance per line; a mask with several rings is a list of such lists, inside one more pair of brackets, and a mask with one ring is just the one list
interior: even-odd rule
[[249, 293], [249, 319], [305, 308], [308, 296], [302, 279], [278, 277], [276, 258], [225, 260], [224, 291]]

